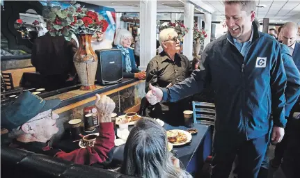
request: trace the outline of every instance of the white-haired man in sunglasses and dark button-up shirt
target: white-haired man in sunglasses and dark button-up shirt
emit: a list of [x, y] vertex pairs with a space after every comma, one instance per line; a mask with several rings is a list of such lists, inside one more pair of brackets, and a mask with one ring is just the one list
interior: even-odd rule
[[[145, 92], [148, 92], [149, 83], [152, 86], [170, 87], [184, 81], [192, 72], [191, 63], [186, 56], [179, 54], [180, 40], [174, 29], [164, 29], [159, 33], [159, 43], [164, 49], [150, 60], [146, 71]], [[166, 102], [149, 106], [149, 115], [159, 118], [168, 124], [184, 124], [183, 111], [189, 108], [189, 99], [179, 102]]]

